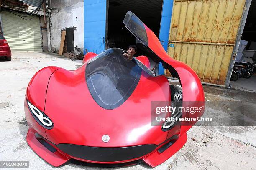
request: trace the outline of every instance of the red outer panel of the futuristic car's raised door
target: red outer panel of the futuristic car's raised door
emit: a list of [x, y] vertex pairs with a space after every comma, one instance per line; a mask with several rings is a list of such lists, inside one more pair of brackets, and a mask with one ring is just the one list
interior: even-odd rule
[[[167, 63], [171, 67], [173, 67], [178, 75], [179, 75], [179, 81], [182, 86], [182, 100], [187, 102], [193, 102], [193, 101], [199, 101], [204, 102], [205, 101], [205, 95], [204, 90], [201, 84], [201, 81], [199, 77], [197, 76], [196, 72], [192, 70], [188, 65], [186, 65], [183, 62], [174, 60], [172, 57], [170, 57], [164, 50], [164, 47], [159, 42], [158, 38], [152, 32], [146, 25], [144, 25], [146, 28], [146, 32], [148, 35], [148, 47], [161, 58], [162, 62]], [[189, 77], [189, 78], [188, 78]], [[195, 102], [195, 105], [197, 105], [198, 102]], [[202, 116], [203, 112], [197, 112], [194, 115], [184, 115], [183, 113], [182, 117], [199, 117]], [[186, 133], [195, 123], [191, 122], [191, 125], [183, 125], [181, 127], [181, 135], [183, 133]]]

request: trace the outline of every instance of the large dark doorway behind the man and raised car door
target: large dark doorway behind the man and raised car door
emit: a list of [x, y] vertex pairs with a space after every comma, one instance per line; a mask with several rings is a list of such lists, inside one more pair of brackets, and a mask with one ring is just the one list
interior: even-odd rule
[[[163, 0], [109, 0], [107, 16], [106, 48], [118, 47], [124, 50], [136, 44], [136, 38], [123, 24], [127, 11], [133, 12], [158, 37]], [[143, 55], [138, 49], [135, 56]]]

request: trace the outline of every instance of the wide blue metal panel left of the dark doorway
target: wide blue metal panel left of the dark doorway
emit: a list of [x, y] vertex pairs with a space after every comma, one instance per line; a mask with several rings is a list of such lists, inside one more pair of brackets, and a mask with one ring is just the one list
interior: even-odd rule
[[107, 0], [84, 0], [84, 53], [105, 50]]

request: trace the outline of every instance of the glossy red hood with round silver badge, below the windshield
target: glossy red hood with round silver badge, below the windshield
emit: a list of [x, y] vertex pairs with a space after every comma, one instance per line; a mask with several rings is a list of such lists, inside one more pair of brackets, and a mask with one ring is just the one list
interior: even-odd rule
[[[164, 76], [153, 77], [142, 71], [128, 99], [115, 109], [105, 109], [90, 93], [86, 67], [59, 69], [51, 76], [45, 114], [54, 127], [46, 130], [48, 140], [97, 147], [158, 145], [166, 140], [168, 132], [151, 126], [151, 101], [170, 100], [169, 82]], [[103, 135], [109, 135], [107, 143], [102, 141]]]

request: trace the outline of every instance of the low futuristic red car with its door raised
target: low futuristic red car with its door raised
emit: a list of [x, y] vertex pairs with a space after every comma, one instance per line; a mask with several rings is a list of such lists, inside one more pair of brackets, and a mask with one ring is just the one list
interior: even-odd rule
[[[187, 141], [186, 132], [196, 121], [152, 125], [151, 102], [204, 102], [200, 79], [186, 64], [169, 57], [136, 15], [129, 11], [123, 23], [137, 38], [137, 47], [179, 79], [182, 91], [170, 86], [166, 77], [154, 76], [146, 56], [128, 60], [119, 48], [87, 53], [77, 70], [39, 70], [26, 91], [26, 140], [53, 166], [78, 160], [108, 165], [144, 162], [155, 167]], [[192, 117], [202, 114], [194, 112]]]

